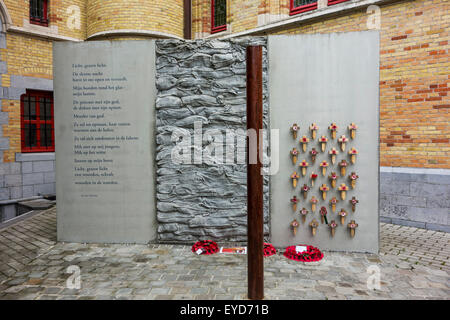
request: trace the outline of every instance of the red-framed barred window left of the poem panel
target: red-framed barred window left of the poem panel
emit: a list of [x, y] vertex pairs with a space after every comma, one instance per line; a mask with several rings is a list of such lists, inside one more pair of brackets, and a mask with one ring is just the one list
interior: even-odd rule
[[53, 93], [27, 90], [20, 97], [22, 152], [55, 151]]

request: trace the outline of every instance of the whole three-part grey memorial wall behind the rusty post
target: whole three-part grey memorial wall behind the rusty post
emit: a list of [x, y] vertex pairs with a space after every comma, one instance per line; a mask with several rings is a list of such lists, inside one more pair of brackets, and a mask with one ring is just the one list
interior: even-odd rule
[[[378, 42], [377, 32], [355, 32], [55, 44], [58, 239], [246, 241], [245, 50], [261, 45], [264, 162], [279, 162], [264, 176], [266, 240], [276, 246], [376, 252]], [[316, 137], [312, 123], [319, 127]], [[332, 123], [339, 126], [335, 138], [328, 129]], [[354, 139], [352, 123], [358, 127]], [[295, 139], [294, 124], [300, 127]], [[268, 129], [279, 138], [270, 140]], [[303, 135], [309, 138], [306, 146]], [[337, 159], [348, 162], [348, 172], [332, 187], [328, 175], [340, 167], [331, 163], [329, 152], [342, 147], [342, 135], [349, 140]], [[312, 161], [310, 152], [320, 150], [321, 136], [329, 143]], [[299, 150], [295, 163], [293, 148]], [[358, 150], [356, 162], [348, 154], [352, 148]], [[303, 160], [308, 176], [302, 174]], [[326, 175], [323, 161], [329, 165]], [[320, 173], [315, 186], [309, 180], [313, 171]], [[350, 189], [353, 173], [359, 180]], [[335, 212], [329, 201], [341, 196], [343, 183], [348, 195]], [[324, 198], [323, 185], [330, 188]], [[312, 196], [317, 210], [302, 215]], [[355, 211], [353, 197], [359, 199]], [[324, 222], [322, 207], [328, 210]], [[341, 209], [348, 214], [344, 223]], [[334, 231], [332, 220], [339, 225]]]

